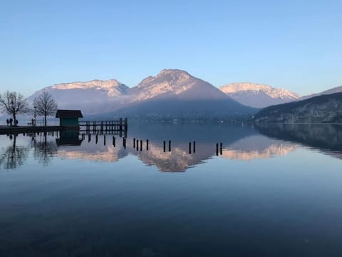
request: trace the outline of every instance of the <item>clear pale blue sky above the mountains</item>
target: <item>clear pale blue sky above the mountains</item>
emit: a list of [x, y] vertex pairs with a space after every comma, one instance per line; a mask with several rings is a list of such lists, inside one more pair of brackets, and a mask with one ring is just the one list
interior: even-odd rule
[[341, 0], [1, 0], [0, 88], [185, 69], [310, 94], [342, 85], [341, 28]]

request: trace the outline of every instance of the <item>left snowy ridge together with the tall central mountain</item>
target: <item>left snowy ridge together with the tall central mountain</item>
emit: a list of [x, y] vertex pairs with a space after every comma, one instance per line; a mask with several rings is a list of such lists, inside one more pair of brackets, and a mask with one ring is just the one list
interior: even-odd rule
[[206, 81], [178, 69], [164, 69], [129, 88], [111, 79], [48, 86], [29, 100], [48, 91], [63, 109], [81, 109], [83, 114], [106, 116], [238, 116], [256, 113], [239, 104]]

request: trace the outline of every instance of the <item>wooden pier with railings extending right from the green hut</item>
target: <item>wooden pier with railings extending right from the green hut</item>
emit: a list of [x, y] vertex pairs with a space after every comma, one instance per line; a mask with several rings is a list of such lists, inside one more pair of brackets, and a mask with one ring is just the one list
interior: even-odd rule
[[128, 131], [127, 118], [116, 121], [78, 121], [78, 131], [120, 132]]

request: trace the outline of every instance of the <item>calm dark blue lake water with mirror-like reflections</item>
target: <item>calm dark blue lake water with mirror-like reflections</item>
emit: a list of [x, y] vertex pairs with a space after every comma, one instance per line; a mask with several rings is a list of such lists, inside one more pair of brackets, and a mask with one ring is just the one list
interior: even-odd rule
[[3, 135], [0, 256], [341, 256], [341, 158], [336, 125]]

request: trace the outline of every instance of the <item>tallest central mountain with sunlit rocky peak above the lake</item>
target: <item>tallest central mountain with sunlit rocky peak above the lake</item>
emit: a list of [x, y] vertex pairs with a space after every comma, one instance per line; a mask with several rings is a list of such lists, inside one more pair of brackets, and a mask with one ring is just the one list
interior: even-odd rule
[[143, 79], [129, 94], [130, 104], [116, 113], [191, 119], [244, 116], [257, 111], [230, 99], [212, 84], [177, 69], [164, 69]]

